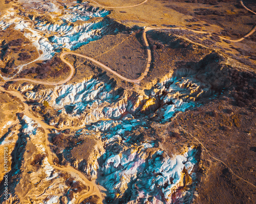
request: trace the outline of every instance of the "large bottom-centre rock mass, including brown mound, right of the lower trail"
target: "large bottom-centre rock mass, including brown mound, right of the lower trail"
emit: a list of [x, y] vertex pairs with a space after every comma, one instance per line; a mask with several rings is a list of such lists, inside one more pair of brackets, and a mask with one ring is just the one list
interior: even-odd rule
[[[96, 179], [108, 191], [108, 202], [189, 203], [195, 192], [198, 150], [188, 147], [183, 154], [169, 157], [157, 140], [148, 140], [143, 134], [133, 132], [144, 125], [144, 122], [131, 119], [100, 121], [69, 132], [70, 136], [61, 136], [65, 141], [67, 137], [73, 138], [69, 145], [58, 144], [55, 139], [55, 152], [63, 164], [68, 162]], [[88, 159], [83, 160], [79, 157], [85, 150], [82, 150], [82, 138], [92, 135], [102, 142], [93, 148], [87, 147], [92, 150]], [[88, 140], [87, 143], [92, 142]], [[76, 149], [78, 156], [71, 158], [70, 149]]]

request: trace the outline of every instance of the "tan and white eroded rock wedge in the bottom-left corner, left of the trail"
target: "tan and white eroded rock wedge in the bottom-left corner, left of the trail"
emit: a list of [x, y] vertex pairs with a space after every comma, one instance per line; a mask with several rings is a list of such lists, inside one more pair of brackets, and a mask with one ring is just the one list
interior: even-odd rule
[[[28, 203], [27, 200], [33, 200], [34, 203], [54, 203], [60, 199], [72, 201], [73, 195], [69, 196], [67, 191], [71, 187], [69, 182], [76, 183], [71, 187], [73, 194], [78, 191], [75, 188], [82, 186], [84, 192], [87, 192], [87, 186], [83, 181], [72, 172], [66, 173], [56, 169], [49, 163], [46, 150], [45, 134], [40, 125], [26, 115], [20, 114], [17, 128], [18, 139], [15, 137], [16, 131], [12, 131], [12, 138], [7, 137], [1, 145], [9, 146], [14, 138], [17, 144], [13, 150], [12, 166], [8, 173], [8, 192], [7, 200], [4, 196], [0, 197], [4, 203]], [[14, 127], [13, 127], [14, 129]], [[69, 182], [67, 182], [69, 181]], [[70, 191], [70, 192], [71, 192]], [[53, 195], [52, 192], [55, 192]]]

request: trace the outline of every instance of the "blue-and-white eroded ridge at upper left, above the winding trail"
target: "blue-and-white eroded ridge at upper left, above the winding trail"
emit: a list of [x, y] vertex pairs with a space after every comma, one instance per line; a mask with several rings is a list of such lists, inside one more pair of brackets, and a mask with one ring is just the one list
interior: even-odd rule
[[[103, 35], [116, 34], [124, 27], [109, 18], [98, 18], [91, 22], [84, 21], [79, 24], [66, 21], [56, 23], [52, 21], [37, 20], [35, 29], [49, 32], [48, 40], [54, 47], [75, 50], [81, 45], [100, 39]], [[58, 35], [61, 33], [62, 35]]]

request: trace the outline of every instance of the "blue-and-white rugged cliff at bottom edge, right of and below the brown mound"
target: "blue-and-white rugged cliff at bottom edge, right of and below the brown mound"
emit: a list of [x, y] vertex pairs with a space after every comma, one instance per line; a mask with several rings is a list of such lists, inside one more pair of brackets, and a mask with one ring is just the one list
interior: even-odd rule
[[[169, 158], [153, 146], [148, 143], [136, 147], [115, 145], [115, 149], [119, 147], [118, 152], [107, 150], [99, 159], [101, 177], [98, 181], [108, 189], [108, 199], [121, 200], [130, 194], [131, 198], [126, 201], [141, 203], [156, 199], [172, 203], [174, 192], [191, 184], [191, 171], [197, 163], [195, 149], [189, 148], [186, 154]], [[184, 176], [189, 182], [183, 181]], [[181, 200], [191, 199], [190, 193], [184, 191]]]

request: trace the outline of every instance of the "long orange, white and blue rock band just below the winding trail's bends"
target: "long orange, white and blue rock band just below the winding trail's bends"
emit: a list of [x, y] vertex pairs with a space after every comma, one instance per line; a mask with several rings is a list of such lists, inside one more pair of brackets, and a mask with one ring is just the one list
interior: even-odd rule
[[[27, 91], [26, 97], [39, 103], [48, 101], [58, 114], [47, 114], [51, 125], [84, 125], [102, 119], [134, 118], [141, 114], [155, 120], [167, 121], [175, 113], [206, 103], [229, 86], [222, 80], [228, 67], [214, 63], [209, 66], [206, 56], [190, 68], [178, 68], [156, 84], [138, 92], [118, 88], [106, 75], [80, 83], [57, 86], [54, 89]], [[27, 86], [27, 85], [26, 85]], [[20, 87], [20, 90], [25, 88]], [[67, 117], [68, 116], [68, 117]], [[74, 123], [74, 118], [79, 122]]]

